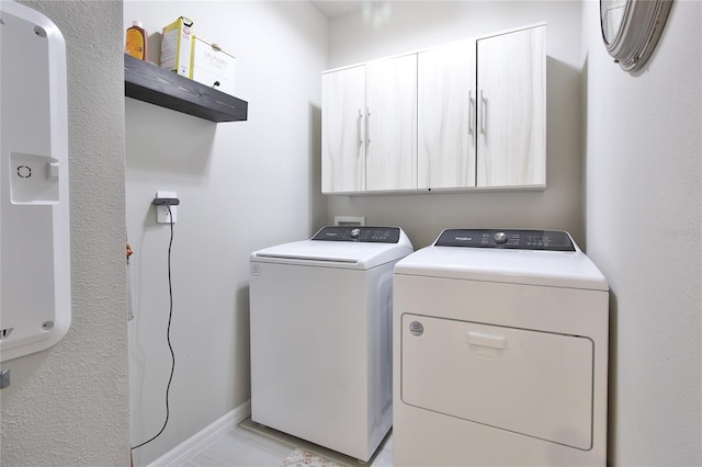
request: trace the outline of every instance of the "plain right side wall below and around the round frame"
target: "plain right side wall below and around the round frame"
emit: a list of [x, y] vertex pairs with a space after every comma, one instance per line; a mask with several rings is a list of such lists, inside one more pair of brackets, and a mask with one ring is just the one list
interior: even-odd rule
[[641, 72], [584, 3], [588, 253], [611, 286], [610, 462], [702, 465], [702, 3], [673, 2]]

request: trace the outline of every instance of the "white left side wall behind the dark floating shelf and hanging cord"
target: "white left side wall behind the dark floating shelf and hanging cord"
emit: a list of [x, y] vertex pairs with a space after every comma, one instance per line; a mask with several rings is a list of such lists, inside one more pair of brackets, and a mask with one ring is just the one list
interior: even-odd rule
[[131, 332], [132, 442], [155, 435], [170, 372], [166, 342], [170, 228], [157, 225], [157, 190], [181, 200], [172, 244], [176, 374], [170, 421], [135, 451], [146, 465], [250, 397], [248, 257], [308, 238], [325, 206], [319, 181], [320, 72], [327, 20], [309, 2], [149, 2], [124, 4], [151, 33], [180, 15], [195, 34], [237, 57], [237, 96], [247, 122], [215, 124], [126, 100], [127, 232], [135, 319]]

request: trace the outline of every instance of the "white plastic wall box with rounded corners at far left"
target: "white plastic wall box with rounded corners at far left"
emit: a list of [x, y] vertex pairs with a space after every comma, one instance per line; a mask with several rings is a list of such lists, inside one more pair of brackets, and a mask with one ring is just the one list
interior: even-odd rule
[[0, 361], [70, 326], [66, 44], [46, 16], [0, 1]]

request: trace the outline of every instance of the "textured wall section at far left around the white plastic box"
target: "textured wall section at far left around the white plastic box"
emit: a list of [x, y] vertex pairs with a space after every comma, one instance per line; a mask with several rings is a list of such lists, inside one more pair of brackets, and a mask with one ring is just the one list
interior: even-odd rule
[[66, 39], [72, 322], [55, 346], [2, 363], [0, 464], [127, 466], [122, 3], [22, 3]]

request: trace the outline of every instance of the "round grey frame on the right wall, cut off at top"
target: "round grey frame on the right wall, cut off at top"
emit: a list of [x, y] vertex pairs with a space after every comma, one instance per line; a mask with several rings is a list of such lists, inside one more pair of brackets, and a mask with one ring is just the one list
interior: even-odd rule
[[600, 0], [602, 41], [614, 61], [625, 71], [644, 66], [656, 48], [668, 19], [672, 0], [626, 0], [622, 21], [612, 42], [607, 41]]

